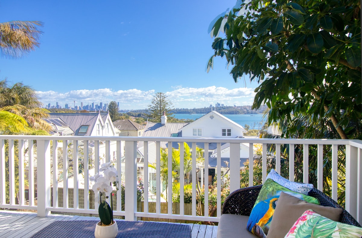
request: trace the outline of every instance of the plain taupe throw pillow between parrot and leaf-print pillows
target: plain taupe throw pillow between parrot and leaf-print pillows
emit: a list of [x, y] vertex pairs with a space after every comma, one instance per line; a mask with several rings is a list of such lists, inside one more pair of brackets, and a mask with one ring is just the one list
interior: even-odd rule
[[267, 238], [284, 237], [296, 220], [306, 211], [312, 209], [314, 212], [321, 214], [333, 221], [339, 221], [342, 213], [340, 208], [329, 206], [320, 206], [298, 199], [287, 193], [281, 193], [277, 206], [270, 223]]

